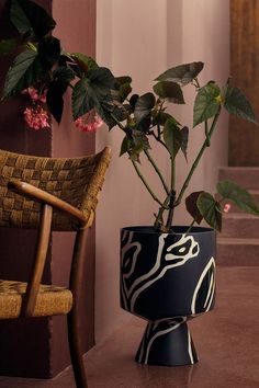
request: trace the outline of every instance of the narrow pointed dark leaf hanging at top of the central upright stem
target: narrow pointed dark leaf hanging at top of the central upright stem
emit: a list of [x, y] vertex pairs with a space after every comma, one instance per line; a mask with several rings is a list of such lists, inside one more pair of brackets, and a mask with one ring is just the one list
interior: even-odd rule
[[176, 125], [174, 119], [169, 118], [166, 122], [162, 135], [167, 149], [172, 159], [174, 159], [182, 145], [182, 133]]

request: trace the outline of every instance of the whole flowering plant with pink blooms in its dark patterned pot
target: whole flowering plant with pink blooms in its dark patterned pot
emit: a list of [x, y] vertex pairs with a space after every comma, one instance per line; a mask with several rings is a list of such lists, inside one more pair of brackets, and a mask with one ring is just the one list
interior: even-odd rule
[[[49, 115], [60, 123], [63, 98], [71, 89], [75, 125], [95, 130], [102, 122], [110, 129], [120, 128], [124, 139], [120, 155], [127, 156], [138, 179], [157, 204], [153, 226], [123, 228], [121, 232], [121, 305], [148, 320], [136, 360], [144, 364], [183, 365], [198, 361], [187, 327], [188, 319], [210, 311], [215, 299], [216, 232], [222, 216], [233, 202], [259, 216], [252, 196], [230, 181], [218, 182], [217, 194], [201, 191], [185, 197], [193, 173], [210, 147], [223, 109], [256, 123], [250, 103], [232, 84], [210, 81], [199, 83], [201, 61], [172, 67], [158, 76], [153, 91], [133, 93], [128, 76], [114, 77], [92, 58], [67, 53], [50, 35], [55, 21], [30, 0], [11, 0], [10, 19], [21, 38], [0, 43], [7, 54], [20, 46], [20, 54], [8, 70], [3, 98], [25, 93], [31, 106], [24, 111], [34, 129], [49, 126]], [[184, 183], [176, 186], [176, 159], [187, 159], [189, 128], [168, 113], [168, 104], [183, 104], [183, 89], [194, 88], [193, 128], [204, 128], [204, 141], [196, 151]], [[196, 130], [196, 129], [194, 129]], [[201, 130], [201, 129], [200, 129]], [[169, 182], [153, 155], [153, 141], [167, 152], [171, 173]], [[142, 172], [144, 160], [158, 176], [165, 193], [158, 197], [148, 176]], [[174, 209], [185, 202], [192, 216], [190, 226], [176, 226]], [[209, 227], [199, 226], [205, 221]]]

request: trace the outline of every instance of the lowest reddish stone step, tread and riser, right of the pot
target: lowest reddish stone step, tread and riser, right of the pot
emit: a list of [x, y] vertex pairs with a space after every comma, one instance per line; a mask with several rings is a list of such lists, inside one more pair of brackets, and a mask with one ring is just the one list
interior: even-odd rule
[[259, 265], [259, 239], [217, 238], [218, 265]]

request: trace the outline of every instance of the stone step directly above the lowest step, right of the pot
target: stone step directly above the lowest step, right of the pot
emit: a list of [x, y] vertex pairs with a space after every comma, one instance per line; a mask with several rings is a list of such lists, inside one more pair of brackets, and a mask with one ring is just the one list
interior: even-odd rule
[[224, 214], [221, 237], [259, 239], [259, 217], [246, 213]]

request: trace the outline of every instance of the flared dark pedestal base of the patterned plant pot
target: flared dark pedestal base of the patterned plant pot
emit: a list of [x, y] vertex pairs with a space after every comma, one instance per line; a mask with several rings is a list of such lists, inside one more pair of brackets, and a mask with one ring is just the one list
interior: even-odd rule
[[149, 321], [135, 361], [145, 365], [192, 365], [199, 358], [185, 318]]

